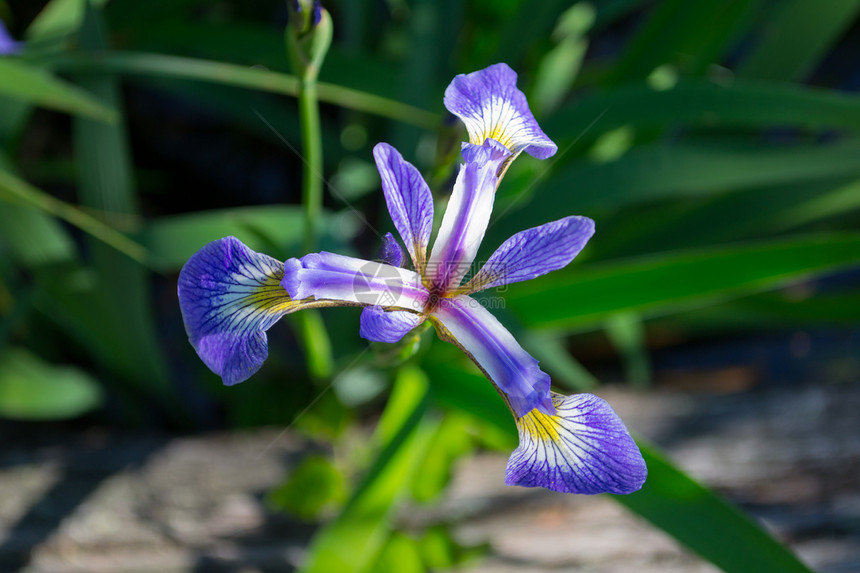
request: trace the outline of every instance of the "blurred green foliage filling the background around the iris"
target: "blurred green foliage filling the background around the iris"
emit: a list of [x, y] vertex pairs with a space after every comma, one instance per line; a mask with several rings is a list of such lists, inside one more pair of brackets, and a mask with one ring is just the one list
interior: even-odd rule
[[[860, 265], [860, 1], [326, 7], [318, 247], [371, 256], [373, 230], [389, 229], [370, 160], [377, 141], [443, 198], [461, 139], [443, 90], [456, 73], [505, 61], [560, 151], [514, 164], [484, 244], [562, 215], [597, 221], [575, 264], [504, 293], [503, 321], [557, 385], [597, 383], [571, 353], [595, 330], [647, 385], [657, 322], [680, 339], [857, 324], [856, 278], [825, 289], [818, 277]], [[227, 389], [185, 341], [175, 278], [200, 246], [235, 235], [280, 259], [303, 254], [286, 15], [264, 0], [0, 0], [25, 41], [0, 56], [0, 416], [90, 412], [182, 428], [295, 420], [350, 452], [307, 460], [270, 496], [308, 519], [338, 512], [307, 571], [452, 566], [480, 549], [456, 546], [442, 526], [399, 532], [391, 518], [405, 499], [441, 495], [476, 447], [516, 445], [503, 402], [465, 357], [431, 332], [367, 352], [358, 313], [332, 310], [288, 317], [263, 370]], [[780, 290], [797, 281], [803, 297]], [[328, 338], [330, 354], [315, 355]], [[348, 430], [380, 410], [389, 385], [375, 436], [356, 445]], [[645, 489], [619, 501], [727, 571], [804, 570], [645, 452]]]

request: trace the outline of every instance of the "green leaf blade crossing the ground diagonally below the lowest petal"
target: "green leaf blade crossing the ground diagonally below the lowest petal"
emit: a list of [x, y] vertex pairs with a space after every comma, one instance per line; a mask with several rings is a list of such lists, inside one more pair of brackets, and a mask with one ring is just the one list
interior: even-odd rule
[[788, 549], [734, 506], [638, 442], [645, 486], [612, 497], [727, 573], [810, 573]]

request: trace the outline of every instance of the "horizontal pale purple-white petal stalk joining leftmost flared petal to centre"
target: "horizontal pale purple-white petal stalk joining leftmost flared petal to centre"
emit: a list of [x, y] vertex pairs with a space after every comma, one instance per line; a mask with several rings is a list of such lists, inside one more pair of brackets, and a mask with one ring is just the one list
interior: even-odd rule
[[285, 262], [281, 285], [295, 300], [337, 300], [416, 312], [423, 310], [428, 297], [415, 272], [325, 251]]

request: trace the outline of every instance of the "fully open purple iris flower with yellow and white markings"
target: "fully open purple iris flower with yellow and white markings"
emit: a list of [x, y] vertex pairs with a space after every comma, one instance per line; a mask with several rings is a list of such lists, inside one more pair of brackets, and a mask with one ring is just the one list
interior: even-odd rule
[[191, 344], [225, 384], [256, 372], [267, 356], [265, 332], [304, 308], [361, 306], [360, 335], [394, 343], [425, 321], [456, 344], [493, 383], [514, 415], [519, 447], [505, 483], [556, 491], [630, 493], [647, 473], [623, 422], [601, 398], [563, 396], [513, 335], [471, 295], [566, 266], [594, 233], [586, 217], [565, 217], [517, 233], [468, 281], [495, 191], [522, 151], [546, 158], [555, 144], [541, 131], [516, 74], [505, 64], [457, 76], [445, 105], [469, 131], [464, 163], [433, 246], [433, 196], [418, 170], [388, 144], [373, 155], [388, 211], [412, 262], [387, 234], [383, 262], [311, 253], [280, 263], [234, 237], [203, 247], [179, 277]]

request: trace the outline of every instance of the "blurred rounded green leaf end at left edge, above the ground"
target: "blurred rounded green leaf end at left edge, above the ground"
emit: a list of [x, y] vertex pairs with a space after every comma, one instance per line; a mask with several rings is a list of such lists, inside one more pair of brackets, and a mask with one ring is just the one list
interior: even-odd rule
[[102, 393], [87, 373], [52, 366], [22, 348], [0, 355], [0, 416], [16, 420], [74, 418], [99, 407]]

